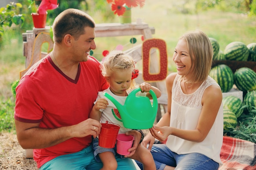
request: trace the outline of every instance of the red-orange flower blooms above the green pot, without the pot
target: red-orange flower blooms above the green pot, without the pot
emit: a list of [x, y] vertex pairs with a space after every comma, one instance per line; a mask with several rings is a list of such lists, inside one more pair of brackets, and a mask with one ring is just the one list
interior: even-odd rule
[[122, 16], [126, 9], [131, 9], [132, 7], [142, 8], [145, 4], [145, 0], [106, 0], [111, 4], [111, 10], [114, 14]]

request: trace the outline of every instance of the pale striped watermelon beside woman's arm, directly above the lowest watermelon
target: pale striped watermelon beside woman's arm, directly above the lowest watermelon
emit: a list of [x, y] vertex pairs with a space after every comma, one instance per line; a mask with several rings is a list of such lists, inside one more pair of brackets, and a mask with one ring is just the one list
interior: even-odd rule
[[236, 117], [240, 117], [243, 113], [243, 102], [236, 96], [226, 96], [222, 99], [223, 109], [228, 109], [236, 114]]

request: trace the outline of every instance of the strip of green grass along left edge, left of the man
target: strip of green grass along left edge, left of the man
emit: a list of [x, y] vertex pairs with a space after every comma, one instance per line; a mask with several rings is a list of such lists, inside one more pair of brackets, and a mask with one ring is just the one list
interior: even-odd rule
[[19, 72], [25, 69], [25, 57], [22, 55], [22, 35], [19, 31], [6, 30], [3, 42], [0, 47], [0, 132], [9, 132], [15, 130], [15, 98], [11, 85], [19, 79]]

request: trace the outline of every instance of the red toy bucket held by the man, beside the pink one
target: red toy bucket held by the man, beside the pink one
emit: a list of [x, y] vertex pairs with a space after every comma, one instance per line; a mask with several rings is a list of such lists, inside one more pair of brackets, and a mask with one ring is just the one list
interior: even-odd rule
[[99, 146], [103, 148], [114, 148], [120, 126], [108, 121], [106, 121], [106, 123], [101, 123], [101, 125], [101, 132], [99, 134]]

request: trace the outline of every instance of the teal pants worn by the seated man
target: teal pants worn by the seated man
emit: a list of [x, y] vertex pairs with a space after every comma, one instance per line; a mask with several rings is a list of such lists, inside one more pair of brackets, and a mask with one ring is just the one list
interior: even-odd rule
[[[40, 167], [40, 170], [99, 170], [102, 163], [94, 159], [92, 146], [72, 154], [56, 157]], [[136, 170], [132, 159], [116, 156], [117, 170]]]

